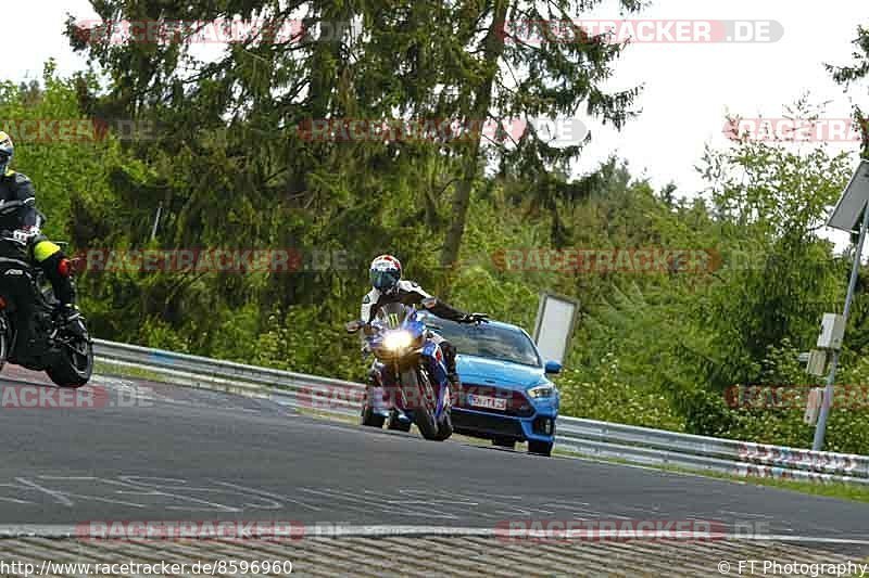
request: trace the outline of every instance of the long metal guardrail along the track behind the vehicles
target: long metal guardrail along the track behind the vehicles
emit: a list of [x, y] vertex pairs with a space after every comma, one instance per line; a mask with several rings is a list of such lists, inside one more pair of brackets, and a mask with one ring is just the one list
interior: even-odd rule
[[[98, 359], [169, 376], [182, 385], [267, 397], [297, 409], [356, 415], [362, 384], [95, 339]], [[631, 463], [738, 476], [869, 484], [869, 457], [768, 446], [559, 416], [557, 446]]]

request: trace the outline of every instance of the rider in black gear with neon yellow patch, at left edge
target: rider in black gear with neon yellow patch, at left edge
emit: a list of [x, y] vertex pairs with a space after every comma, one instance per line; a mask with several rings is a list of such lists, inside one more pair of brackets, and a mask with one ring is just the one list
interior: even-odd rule
[[34, 183], [25, 175], [10, 168], [14, 145], [9, 134], [0, 131], [0, 231], [5, 239], [17, 244], [10, 251], [0, 243], [0, 252], [10, 258], [26, 258], [46, 274], [60, 301], [55, 314], [64, 329], [78, 336], [87, 334], [81, 313], [75, 305], [75, 288], [71, 279], [72, 266], [61, 247], [49, 241], [40, 231], [45, 216], [36, 208]]

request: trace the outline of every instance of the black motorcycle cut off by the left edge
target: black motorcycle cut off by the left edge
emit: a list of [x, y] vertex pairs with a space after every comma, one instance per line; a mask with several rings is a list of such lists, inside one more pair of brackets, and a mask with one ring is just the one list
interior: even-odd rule
[[[20, 251], [5, 231], [0, 244]], [[0, 369], [9, 361], [45, 371], [61, 387], [81, 387], [93, 371], [91, 338], [65, 329], [51, 284], [38, 267], [3, 255], [15, 251], [0, 253]]]

